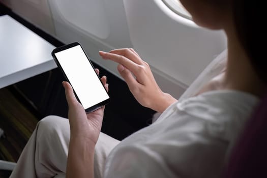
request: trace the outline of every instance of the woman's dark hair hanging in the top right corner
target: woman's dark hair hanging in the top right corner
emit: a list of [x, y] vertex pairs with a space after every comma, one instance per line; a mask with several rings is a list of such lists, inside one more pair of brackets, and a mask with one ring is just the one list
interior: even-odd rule
[[[236, 32], [241, 41], [250, 63], [253, 66], [258, 77], [267, 83], [267, 65], [266, 65], [266, 23], [265, 14], [263, 14], [265, 1], [234, 1], [234, 22]], [[263, 10], [264, 8], [264, 10]], [[242, 65], [242, 64], [241, 64]]]

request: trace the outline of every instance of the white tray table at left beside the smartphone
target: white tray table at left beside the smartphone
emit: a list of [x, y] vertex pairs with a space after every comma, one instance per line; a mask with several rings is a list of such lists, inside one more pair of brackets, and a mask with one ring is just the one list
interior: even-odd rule
[[10, 16], [0, 16], [0, 88], [56, 68], [54, 48]]

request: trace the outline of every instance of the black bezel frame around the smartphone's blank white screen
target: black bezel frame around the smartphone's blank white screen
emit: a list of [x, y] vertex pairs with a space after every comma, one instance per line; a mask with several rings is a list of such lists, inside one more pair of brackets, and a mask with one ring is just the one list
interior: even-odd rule
[[[61, 69], [61, 71], [63, 72], [63, 74], [64, 74], [64, 76], [65, 76], [65, 78], [66, 78], [66, 80], [67, 80], [70, 84], [71, 84], [71, 82], [69, 81], [69, 79], [68, 79], [66, 73], [64, 72], [62, 66], [61, 66], [60, 63], [58, 62], [58, 60], [57, 60], [57, 58], [56, 58], [56, 56], [55, 56], [55, 53], [64, 51], [64, 50], [66, 50], [66, 49], [69, 49], [69, 48], [72, 48], [72, 47], [75, 47], [75, 46], [80, 46], [80, 47], [81, 47], [83, 53], [84, 53], [85, 56], [87, 57], [88, 62], [91, 64], [91, 66], [93, 67], [93, 69], [95, 69], [94, 66], [93, 66], [93, 64], [92, 64], [92, 62], [91, 62], [91, 60], [90, 60], [90, 58], [87, 56], [85, 50], [83, 49], [83, 47], [81, 46], [81, 44], [78, 43], [78, 42], [70, 43], [70, 44], [67, 44], [67, 45], [64, 45], [64, 46], [55, 48], [55, 49], [53, 49], [53, 51], [51, 52], [51, 55], [52, 55], [52, 57], [53, 57], [53, 59], [54, 59], [56, 65], [57, 65], [57, 67]], [[95, 71], [95, 70], [94, 70], [94, 71]], [[96, 71], [95, 71], [95, 73], [96, 73]], [[100, 80], [100, 82], [101, 82], [101, 79], [100, 79], [100, 77], [98, 76], [97, 73], [96, 73], [96, 75], [97, 75], [97, 77], [99, 78], [99, 80]], [[101, 82], [101, 84], [102, 84], [104, 90], [106, 91], [106, 88], [105, 88], [105, 86], [103, 85], [102, 82]], [[72, 85], [72, 84], [71, 84], [71, 85]], [[75, 90], [74, 90], [74, 88], [73, 88], [73, 91], [74, 91], [74, 94], [75, 94], [77, 100], [79, 101], [79, 103], [81, 103], [80, 100], [79, 100], [79, 97], [77, 96], [77, 94], [76, 94], [76, 92], [75, 92]], [[107, 93], [107, 95], [108, 95], [108, 92], [107, 92], [107, 91], [106, 91], [106, 93]], [[104, 101], [102, 101], [102, 102], [100, 102], [100, 103], [98, 103], [98, 104], [96, 104], [96, 105], [94, 105], [94, 106], [91, 106], [91, 107], [89, 107], [89, 108], [85, 108], [84, 110], [85, 110], [86, 112], [93, 112], [93, 111], [95, 111], [95, 110], [97, 110], [97, 109], [99, 109], [99, 108], [105, 106], [106, 104], [108, 104], [108, 103], [110, 102], [110, 96], [108, 95], [108, 97], [109, 97], [108, 99], [106, 99], [106, 100], [104, 100]]]

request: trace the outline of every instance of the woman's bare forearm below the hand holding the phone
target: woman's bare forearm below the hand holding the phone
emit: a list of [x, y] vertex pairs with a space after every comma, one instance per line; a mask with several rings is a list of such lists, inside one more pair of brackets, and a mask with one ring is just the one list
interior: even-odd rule
[[95, 143], [90, 140], [71, 138], [66, 177], [94, 177]]

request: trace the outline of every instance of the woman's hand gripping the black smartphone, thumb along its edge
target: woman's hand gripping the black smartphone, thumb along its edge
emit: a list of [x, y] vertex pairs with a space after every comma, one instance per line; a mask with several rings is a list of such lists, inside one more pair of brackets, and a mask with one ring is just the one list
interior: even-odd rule
[[[99, 74], [98, 69], [96, 69], [96, 72]], [[106, 77], [103, 76], [101, 81], [108, 91]], [[83, 106], [77, 101], [72, 86], [66, 81], [63, 82], [63, 86], [69, 105], [71, 138], [85, 139], [96, 144], [102, 126], [105, 106], [94, 112], [86, 113]]]

